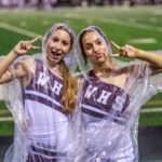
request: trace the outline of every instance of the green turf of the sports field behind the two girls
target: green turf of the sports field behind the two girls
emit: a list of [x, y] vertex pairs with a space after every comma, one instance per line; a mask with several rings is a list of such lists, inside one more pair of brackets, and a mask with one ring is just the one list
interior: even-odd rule
[[[87, 26], [98, 26], [109, 40], [119, 45], [131, 44], [143, 50], [162, 49], [162, 6], [143, 8], [92, 8], [92, 9], [55, 9], [53, 11], [0, 12], [0, 55], [8, 54], [19, 40], [30, 40], [31, 36], [44, 35], [55, 23], [70, 25], [78, 35]], [[3, 27], [10, 26], [10, 29]], [[22, 33], [13, 27], [27, 30]], [[135, 39], [151, 39], [150, 43], [133, 43]], [[36, 43], [41, 45], [41, 42]], [[113, 53], [117, 51], [112, 48]], [[37, 52], [41, 52], [37, 51]], [[35, 52], [30, 52], [32, 54]], [[125, 58], [120, 58], [127, 60]], [[162, 94], [152, 97], [143, 108], [162, 107]], [[0, 102], [0, 110], [6, 110]], [[10, 113], [0, 113], [0, 117], [10, 117]], [[3, 126], [2, 126], [3, 125]], [[140, 126], [162, 125], [161, 112], [140, 113]], [[13, 133], [13, 122], [0, 122], [0, 135]], [[9, 129], [9, 131], [8, 131]], [[3, 130], [3, 131], [2, 131]]]

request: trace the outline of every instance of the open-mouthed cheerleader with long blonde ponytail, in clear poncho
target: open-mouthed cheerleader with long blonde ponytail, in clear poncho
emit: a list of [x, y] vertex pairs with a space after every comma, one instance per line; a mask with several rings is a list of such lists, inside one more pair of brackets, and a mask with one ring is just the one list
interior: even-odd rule
[[[68, 25], [56, 24], [43, 39], [42, 58], [28, 56], [9, 68], [17, 57], [39, 49], [33, 45], [40, 40], [38, 37], [21, 41], [1, 59], [0, 83], [12, 81], [8, 106], [15, 121], [14, 145], [4, 161], [69, 161], [68, 147], [73, 140], [70, 117], [76, 106], [77, 84], [63, 58], [72, 50], [75, 39]], [[14, 83], [17, 79], [19, 91]]]

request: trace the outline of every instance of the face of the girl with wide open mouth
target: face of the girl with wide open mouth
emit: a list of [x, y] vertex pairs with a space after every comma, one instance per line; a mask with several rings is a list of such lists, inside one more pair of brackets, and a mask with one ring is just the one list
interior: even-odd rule
[[70, 35], [65, 29], [56, 29], [48, 41], [46, 59], [59, 63], [71, 49]]

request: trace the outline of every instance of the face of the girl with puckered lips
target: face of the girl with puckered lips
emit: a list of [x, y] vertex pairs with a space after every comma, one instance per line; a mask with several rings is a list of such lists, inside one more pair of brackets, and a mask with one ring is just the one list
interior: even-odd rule
[[87, 31], [82, 37], [82, 48], [86, 57], [93, 64], [104, 63], [108, 58], [105, 40], [95, 31]]

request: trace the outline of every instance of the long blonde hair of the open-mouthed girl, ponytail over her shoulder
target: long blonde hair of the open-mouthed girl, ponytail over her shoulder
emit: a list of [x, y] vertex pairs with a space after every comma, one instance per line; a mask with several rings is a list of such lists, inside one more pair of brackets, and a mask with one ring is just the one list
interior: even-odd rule
[[[70, 36], [70, 50], [72, 49], [72, 44], [75, 43], [75, 32], [73, 30], [66, 24], [56, 24], [52, 26], [49, 31], [46, 32], [44, 40], [43, 40], [43, 49], [45, 49], [45, 44], [48, 39], [53, 33], [54, 30], [62, 29], [69, 33]], [[78, 94], [78, 86], [77, 81], [72, 77], [70, 70], [66, 66], [64, 59], [60, 60], [60, 71], [63, 73], [63, 97], [62, 97], [62, 105], [64, 106], [63, 111], [72, 113], [76, 107], [77, 94]]]

